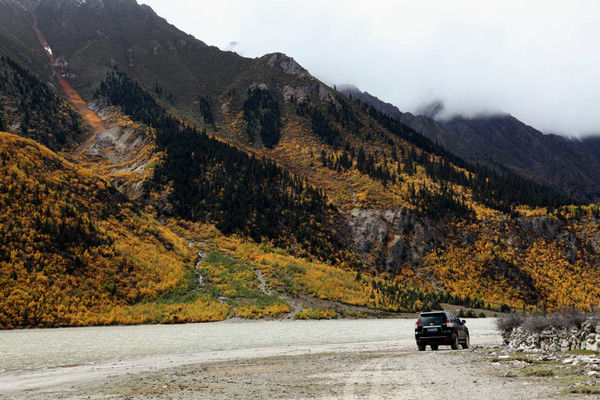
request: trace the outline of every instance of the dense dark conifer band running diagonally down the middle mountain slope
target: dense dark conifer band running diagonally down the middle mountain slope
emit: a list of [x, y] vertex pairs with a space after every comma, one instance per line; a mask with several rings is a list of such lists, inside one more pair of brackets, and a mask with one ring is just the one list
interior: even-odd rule
[[161, 211], [168, 208], [180, 218], [214, 223], [225, 234], [272, 241], [323, 260], [350, 257], [339, 231], [343, 222], [322, 191], [170, 116], [121, 72], [108, 75], [96, 98], [155, 129], [165, 156], [147, 190], [154, 201], [169, 193], [169, 205]]

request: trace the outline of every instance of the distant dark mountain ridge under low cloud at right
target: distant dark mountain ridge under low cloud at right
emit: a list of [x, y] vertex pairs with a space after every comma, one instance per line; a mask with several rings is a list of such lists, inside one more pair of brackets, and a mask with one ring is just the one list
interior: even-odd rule
[[436, 119], [443, 108], [439, 102], [413, 115], [358, 88], [342, 85], [340, 90], [398, 119], [466, 160], [513, 171], [580, 201], [600, 199], [596, 138], [579, 140], [543, 134], [511, 115]]

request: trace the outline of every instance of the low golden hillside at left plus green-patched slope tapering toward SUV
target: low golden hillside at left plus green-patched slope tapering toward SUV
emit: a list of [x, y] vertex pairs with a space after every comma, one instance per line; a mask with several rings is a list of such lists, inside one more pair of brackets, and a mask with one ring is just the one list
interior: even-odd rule
[[[8, 133], [0, 133], [0, 172], [1, 328], [276, 317], [292, 311], [280, 294], [315, 296], [338, 310], [483, 305], [296, 258], [210, 225], [164, 226], [102, 177]], [[196, 246], [210, 251], [201, 264]], [[344, 309], [291, 316], [367, 315]]]

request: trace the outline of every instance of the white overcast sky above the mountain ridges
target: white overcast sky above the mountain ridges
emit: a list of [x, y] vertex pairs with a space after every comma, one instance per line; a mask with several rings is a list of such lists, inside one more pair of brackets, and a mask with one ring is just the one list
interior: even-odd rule
[[280, 51], [326, 83], [414, 111], [504, 111], [600, 133], [600, 1], [142, 0], [246, 57]]

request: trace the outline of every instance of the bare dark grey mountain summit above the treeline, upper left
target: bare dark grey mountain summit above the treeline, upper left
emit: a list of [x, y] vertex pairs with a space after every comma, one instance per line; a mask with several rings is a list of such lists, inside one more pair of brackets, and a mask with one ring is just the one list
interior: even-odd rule
[[39, 0], [28, 9], [84, 97], [118, 66], [187, 118], [200, 118], [201, 99], [252, 64], [181, 32], [134, 0]]

